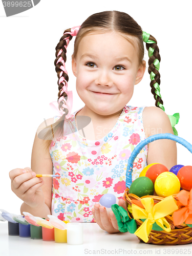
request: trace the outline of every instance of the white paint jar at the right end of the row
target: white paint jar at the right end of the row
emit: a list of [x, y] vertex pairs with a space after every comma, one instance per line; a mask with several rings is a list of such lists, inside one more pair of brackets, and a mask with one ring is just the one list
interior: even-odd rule
[[70, 222], [67, 224], [67, 241], [68, 244], [83, 244], [83, 224]]

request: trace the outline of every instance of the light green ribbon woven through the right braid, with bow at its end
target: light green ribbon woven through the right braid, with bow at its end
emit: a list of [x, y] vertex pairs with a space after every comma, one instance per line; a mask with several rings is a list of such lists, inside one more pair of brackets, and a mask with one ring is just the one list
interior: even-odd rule
[[[144, 32], [144, 31], [143, 31], [142, 37], [143, 37], [143, 41], [146, 42], [147, 44], [154, 44], [155, 43], [155, 41], [149, 40], [150, 34]], [[154, 50], [155, 49], [153, 49], [152, 47], [150, 47], [148, 49], [148, 57], [151, 57], [153, 55]], [[153, 63], [154, 63], [155, 68], [159, 71], [159, 67], [160, 67], [159, 60], [155, 59]], [[152, 71], [151, 74], [150, 74], [150, 79], [155, 80], [155, 76], [156, 76], [155, 73]], [[155, 87], [156, 99], [157, 99], [157, 96], [159, 96], [161, 98], [159, 84], [156, 82], [153, 86]], [[165, 111], [164, 106], [160, 102], [158, 102], [157, 105], [159, 106], [160, 109]], [[170, 120], [170, 124], [172, 125], [174, 135], [178, 136], [178, 132], [175, 129], [175, 125], [179, 122], [179, 117], [180, 117], [179, 113], [175, 113], [173, 116], [170, 116], [170, 115], [167, 115], [167, 116]]]

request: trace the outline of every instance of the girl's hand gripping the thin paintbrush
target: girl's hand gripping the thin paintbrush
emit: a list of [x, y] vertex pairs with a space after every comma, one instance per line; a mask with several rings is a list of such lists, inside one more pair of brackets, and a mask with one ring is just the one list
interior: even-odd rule
[[42, 178], [37, 178], [31, 168], [13, 169], [9, 173], [11, 189], [15, 195], [32, 208], [36, 208], [45, 202], [41, 186]]

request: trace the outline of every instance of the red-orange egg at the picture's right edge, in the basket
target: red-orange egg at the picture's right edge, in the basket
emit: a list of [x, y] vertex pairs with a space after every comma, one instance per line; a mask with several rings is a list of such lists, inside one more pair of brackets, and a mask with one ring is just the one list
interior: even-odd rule
[[177, 177], [180, 180], [181, 188], [190, 191], [192, 188], [192, 166], [187, 165], [182, 167], [179, 170]]

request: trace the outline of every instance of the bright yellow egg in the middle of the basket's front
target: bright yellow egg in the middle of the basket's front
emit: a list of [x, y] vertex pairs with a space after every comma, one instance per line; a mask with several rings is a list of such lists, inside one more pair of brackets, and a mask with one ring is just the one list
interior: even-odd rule
[[179, 193], [180, 181], [178, 177], [170, 172], [161, 173], [155, 181], [155, 191], [159, 197], [168, 197]]

